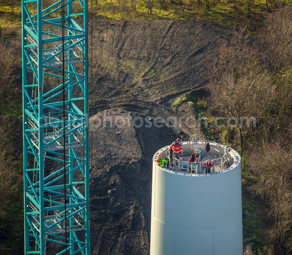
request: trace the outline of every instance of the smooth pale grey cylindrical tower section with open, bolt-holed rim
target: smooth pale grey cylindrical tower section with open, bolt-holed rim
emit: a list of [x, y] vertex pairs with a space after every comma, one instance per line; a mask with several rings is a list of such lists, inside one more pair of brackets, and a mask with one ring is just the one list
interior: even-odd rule
[[[190, 143], [183, 142], [183, 156], [191, 154]], [[243, 254], [241, 159], [224, 145], [210, 145], [208, 153], [227, 152], [223, 171], [168, 170], [156, 162], [166, 157], [167, 147], [154, 155], [150, 255]]]

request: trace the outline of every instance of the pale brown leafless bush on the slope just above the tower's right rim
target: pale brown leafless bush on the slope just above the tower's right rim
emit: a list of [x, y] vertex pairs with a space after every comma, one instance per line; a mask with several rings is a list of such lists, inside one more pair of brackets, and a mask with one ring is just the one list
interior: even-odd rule
[[245, 33], [245, 29], [233, 32], [230, 41], [219, 49], [219, 58], [213, 66], [209, 83], [210, 109], [222, 117], [236, 119], [255, 118], [257, 126], [238, 122], [236, 125], [241, 150], [255, 135], [263, 132], [270, 119], [274, 102], [275, 85], [270, 74], [258, 63], [257, 52]]

